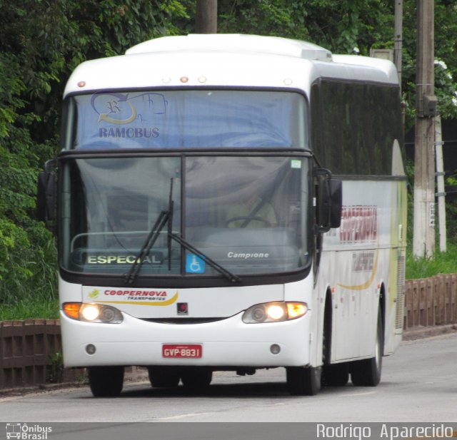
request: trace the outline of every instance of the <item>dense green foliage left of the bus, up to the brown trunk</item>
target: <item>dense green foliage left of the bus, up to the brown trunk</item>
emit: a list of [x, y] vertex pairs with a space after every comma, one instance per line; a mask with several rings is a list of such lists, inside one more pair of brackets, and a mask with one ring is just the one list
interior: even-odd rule
[[53, 237], [34, 208], [39, 170], [58, 149], [66, 78], [187, 19], [175, 0], [0, 2], [0, 302], [56, 296]]

